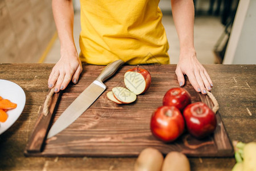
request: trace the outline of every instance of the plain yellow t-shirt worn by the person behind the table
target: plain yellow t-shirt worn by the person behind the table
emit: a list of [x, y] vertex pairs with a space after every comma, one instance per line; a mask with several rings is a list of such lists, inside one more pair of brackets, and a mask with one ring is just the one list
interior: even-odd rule
[[80, 0], [80, 59], [105, 65], [169, 63], [159, 0]]

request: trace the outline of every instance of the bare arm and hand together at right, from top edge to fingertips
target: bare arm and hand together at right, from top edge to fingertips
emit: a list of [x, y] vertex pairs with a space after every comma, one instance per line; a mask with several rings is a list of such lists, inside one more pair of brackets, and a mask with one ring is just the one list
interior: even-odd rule
[[180, 86], [184, 86], [184, 75], [197, 92], [206, 94], [213, 83], [205, 68], [196, 57], [194, 50], [194, 3], [186, 0], [172, 0], [174, 24], [180, 40], [180, 60], [177, 64], [176, 75]]

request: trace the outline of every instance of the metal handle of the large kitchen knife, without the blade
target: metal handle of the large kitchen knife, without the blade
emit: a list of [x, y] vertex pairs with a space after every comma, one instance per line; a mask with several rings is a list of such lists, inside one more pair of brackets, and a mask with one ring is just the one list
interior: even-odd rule
[[104, 82], [108, 78], [110, 78], [115, 72], [118, 70], [120, 66], [124, 64], [123, 60], [119, 59], [112, 63], [109, 63], [100, 73], [100, 75], [97, 77], [97, 81]]

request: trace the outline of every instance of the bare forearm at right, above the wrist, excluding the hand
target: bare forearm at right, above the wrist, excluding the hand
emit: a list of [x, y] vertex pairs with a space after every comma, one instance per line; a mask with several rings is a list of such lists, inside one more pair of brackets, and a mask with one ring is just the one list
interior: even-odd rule
[[180, 40], [180, 51], [194, 51], [193, 0], [171, 0], [174, 25]]

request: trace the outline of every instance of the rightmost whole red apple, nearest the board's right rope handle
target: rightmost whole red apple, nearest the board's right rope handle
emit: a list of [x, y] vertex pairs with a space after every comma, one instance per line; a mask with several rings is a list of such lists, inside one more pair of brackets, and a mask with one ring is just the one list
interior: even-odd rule
[[215, 113], [202, 102], [189, 104], [183, 116], [189, 133], [198, 139], [213, 133], [217, 125]]

